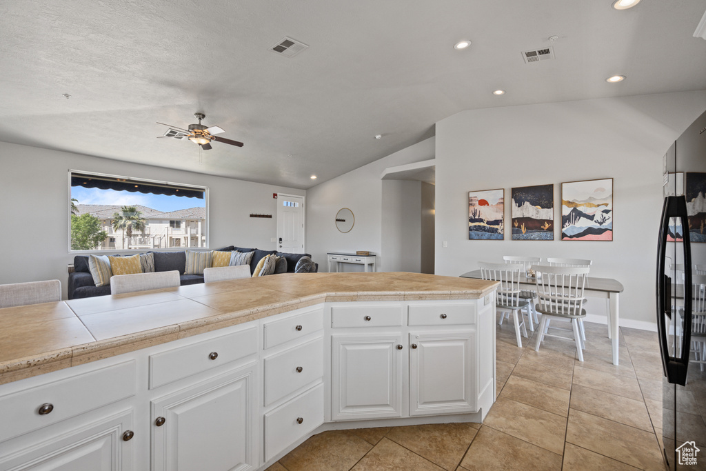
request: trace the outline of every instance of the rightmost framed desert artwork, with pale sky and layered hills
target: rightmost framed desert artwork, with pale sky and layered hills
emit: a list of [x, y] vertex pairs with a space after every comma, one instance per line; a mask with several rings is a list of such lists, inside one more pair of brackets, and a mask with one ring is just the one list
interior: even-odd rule
[[561, 240], [613, 240], [613, 179], [561, 184]]

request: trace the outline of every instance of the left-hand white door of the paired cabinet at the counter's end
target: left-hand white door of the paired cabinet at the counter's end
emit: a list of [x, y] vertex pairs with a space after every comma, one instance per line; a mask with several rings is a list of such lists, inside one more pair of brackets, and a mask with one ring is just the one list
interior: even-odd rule
[[402, 416], [400, 333], [332, 335], [333, 420]]

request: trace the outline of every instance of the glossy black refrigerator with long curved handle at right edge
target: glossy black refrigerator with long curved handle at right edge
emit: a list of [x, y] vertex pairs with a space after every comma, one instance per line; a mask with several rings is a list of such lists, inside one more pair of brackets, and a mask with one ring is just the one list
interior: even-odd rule
[[657, 333], [664, 461], [670, 470], [706, 470], [706, 338], [699, 327], [706, 313], [698, 308], [706, 296], [698, 284], [706, 273], [706, 112], [671, 145], [663, 164]]

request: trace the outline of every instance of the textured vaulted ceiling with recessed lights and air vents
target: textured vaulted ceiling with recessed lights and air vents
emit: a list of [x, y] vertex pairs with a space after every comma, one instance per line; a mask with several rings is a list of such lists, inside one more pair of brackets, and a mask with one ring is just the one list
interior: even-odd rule
[[[706, 89], [705, 0], [612, 1], [7, 1], [0, 141], [306, 189], [464, 109]], [[195, 112], [244, 147], [156, 138]]]

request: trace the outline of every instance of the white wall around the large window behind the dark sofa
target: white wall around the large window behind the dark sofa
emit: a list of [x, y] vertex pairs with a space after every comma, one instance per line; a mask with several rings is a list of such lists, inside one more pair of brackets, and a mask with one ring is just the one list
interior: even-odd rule
[[[73, 262], [68, 252], [68, 170], [208, 186], [210, 247], [237, 245], [275, 249], [277, 200], [273, 193], [306, 191], [223, 177], [150, 167], [0, 142], [0, 201], [4, 249], [0, 283], [61, 280], [64, 298]], [[272, 214], [272, 219], [251, 218]]]

